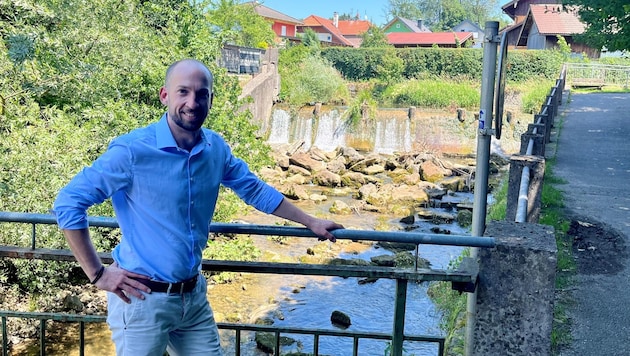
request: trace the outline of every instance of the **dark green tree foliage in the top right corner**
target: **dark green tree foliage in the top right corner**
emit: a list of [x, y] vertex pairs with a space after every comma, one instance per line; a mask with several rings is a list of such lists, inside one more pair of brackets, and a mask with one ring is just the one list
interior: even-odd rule
[[630, 3], [628, 0], [564, 0], [566, 11], [577, 11], [586, 31], [576, 40], [609, 51], [630, 50]]

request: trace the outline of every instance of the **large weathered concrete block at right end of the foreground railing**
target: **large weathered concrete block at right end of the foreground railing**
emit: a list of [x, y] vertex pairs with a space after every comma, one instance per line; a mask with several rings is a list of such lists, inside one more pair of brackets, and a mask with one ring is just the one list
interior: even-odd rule
[[480, 249], [472, 355], [549, 355], [557, 247], [551, 226], [494, 221]]

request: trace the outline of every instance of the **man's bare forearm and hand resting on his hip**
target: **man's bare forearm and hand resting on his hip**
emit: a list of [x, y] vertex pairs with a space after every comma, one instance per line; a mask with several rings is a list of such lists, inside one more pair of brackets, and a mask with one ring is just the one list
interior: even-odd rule
[[[93, 281], [101, 267], [103, 267], [103, 264], [92, 244], [89, 230], [64, 229], [63, 234], [68, 241], [68, 245], [70, 245], [72, 254], [74, 254], [74, 257], [81, 265], [83, 272], [90, 279], [90, 282]], [[136, 298], [144, 299], [144, 295], [140, 293], [140, 291], [151, 293], [149, 287], [133, 278], [146, 279], [147, 277], [118, 268], [118, 266], [114, 264], [103, 270], [101, 277], [95, 285], [100, 289], [115, 293], [122, 300], [130, 303], [131, 300], [129, 300], [128, 294]]]

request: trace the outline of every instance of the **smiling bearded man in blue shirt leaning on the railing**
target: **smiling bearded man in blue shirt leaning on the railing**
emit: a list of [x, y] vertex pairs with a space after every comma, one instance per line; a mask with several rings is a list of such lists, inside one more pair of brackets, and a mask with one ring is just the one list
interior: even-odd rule
[[[266, 213], [303, 224], [322, 239], [343, 228], [304, 213], [252, 174], [225, 141], [202, 128], [213, 77], [186, 59], [166, 71], [160, 121], [114, 139], [60, 192], [54, 212], [90, 281], [107, 291], [118, 355], [220, 355], [219, 335], [199, 277], [219, 185]], [[111, 197], [122, 231], [105, 267], [86, 209]]]

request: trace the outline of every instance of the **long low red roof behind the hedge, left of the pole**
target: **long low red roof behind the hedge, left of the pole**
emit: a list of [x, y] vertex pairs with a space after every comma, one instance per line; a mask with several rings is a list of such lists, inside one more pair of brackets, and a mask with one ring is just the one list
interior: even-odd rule
[[473, 41], [472, 32], [390, 32], [387, 39], [396, 48], [404, 47], [465, 47]]

